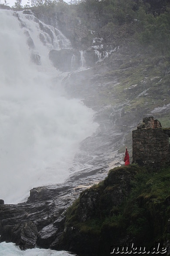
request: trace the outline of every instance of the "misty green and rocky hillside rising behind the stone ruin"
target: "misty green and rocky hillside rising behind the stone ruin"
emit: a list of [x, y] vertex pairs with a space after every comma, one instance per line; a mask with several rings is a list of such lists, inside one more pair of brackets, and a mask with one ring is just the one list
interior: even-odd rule
[[[73, 52], [51, 51], [56, 68], [71, 71], [71, 56], [88, 69], [72, 72], [65, 86], [72, 97], [98, 112], [101, 127], [126, 135], [144, 116], [170, 127], [170, 15], [168, 1], [80, 1], [33, 7], [38, 18], [52, 17], [70, 39]], [[70, 57], [68, 57], [70, 56]], [[70, 58], [70, 59], [69, 59]], [[67, 67], [65, 66], [67, 60]], [[59, 62], [58, 62], [59, 61]], [[64, 62], [64, 64], [63, 64]], [[62, 70], [63, 69], [63, 70]]]

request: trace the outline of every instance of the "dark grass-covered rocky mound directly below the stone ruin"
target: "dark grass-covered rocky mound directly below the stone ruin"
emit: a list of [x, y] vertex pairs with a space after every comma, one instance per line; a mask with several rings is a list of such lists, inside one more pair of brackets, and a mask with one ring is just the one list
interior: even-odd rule
[[[118, 167], [98, 185], [81, 193], [68, 209], [65, 239], [81, 255], [109, 255], [112, 245], [144, 245], [170, 239], [170, 167], [151, 170], [137, 165]], [[69, 238], [69, 228], [77, 230]], [[94, 251], [91, 240], [98, 241]], [[84, 242], [83, 242], [84, 241]], [[86, 247], [83, 248], [84, 243]], [[69, 247], [68, 247], [69, 248]], [[88, 252], [89, 250], [89, 252]], [[73, 249], [74, 251], [74, 249]]]

